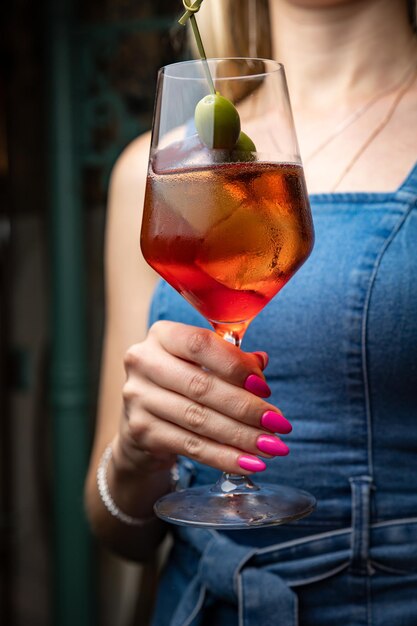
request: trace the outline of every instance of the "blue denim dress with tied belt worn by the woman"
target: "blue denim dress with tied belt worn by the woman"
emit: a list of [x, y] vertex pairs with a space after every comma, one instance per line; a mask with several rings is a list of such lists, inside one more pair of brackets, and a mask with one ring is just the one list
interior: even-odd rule
[[[152, 626], [417, 626], [417, 165], [393, 193], [312, 195], [314, 250], [247, 331], [293, 424], [262, 481], [298, 522], [171, 527]], [[207, 326], [165, 282], [151, 322]], [[218, 472], [180, 459], [183, 486]], [[256, 480], [256, 477], [255, 477]]]

